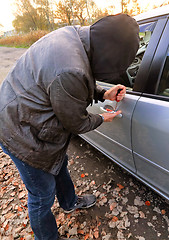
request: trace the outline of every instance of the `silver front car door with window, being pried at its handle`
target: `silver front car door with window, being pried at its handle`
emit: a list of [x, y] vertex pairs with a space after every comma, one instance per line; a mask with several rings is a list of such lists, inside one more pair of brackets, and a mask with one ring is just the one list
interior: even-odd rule
[[[143, 59], [142, 56], [140, 60], [136, 59], [127, 71], [131, 83], [131, 88], [128, 88], [124, 100], [118, 104], [118, 109], [122, 110], [122, 117], [116, 117], [111, 123], [103, 123], [96, 130], [88, 132], [82, 136], [112, 160], [117, 162], [119, 165], [122, 165], [124, 168], [127, 168], [127, 170], [131, 171], [132, 173], [136, 173], [136, 166], [133, 159], [131, 124], [134, 109], [141, 96], [141, 92], [137, 90], [133, 91], [132, 84], [134, 83], [136, 73], [138, 71], [138, 68], [140, 68], [140, 64], [143, 64], [147, 67], [146, 71], [148, 74], [149, 67], [151, 65], [154, 52], [156, 50], [156, 46], [158, 45], [164, 25], [165, 22], [163, 20], [160, 20], [158, 22], [156, 20], [149, 20], [148, 22], [143, 21], [140, 23], [140, 29], [142, 29], [141, 34], [144, 33], [142, 40], [144, 40], [145, 37], [145, 42], [141, 42], [142, 45], [140, 45], [140, 52], [138, 51], [138, 53], [141, 53], [143, 55], [145, 50], [146, 52]], [[151, 32], [151, 34], [146, 34], [148, 32]], [[147, 39], [147, 36], [149, 36], [149, 39]], [[139, 75], [146, 78], [147, 75], [144, 76], [144, 74], [145, 69], [140, 68]], [[138, 81], [136, 81], [136, 83], [136, 88], [137, 86], [141, 86]], [[105, 84], [102, 82], [98, 82], [98, 84], [104, 88], [110, 88], [113, 86], [112, 84]], [[115, 105], [115, 101], [112, 102], [106, 100], [103, 103], [99, 102], [98, 104], [93, 104], [93, 106], [90, 106], [88, 108], [88, 111], [99, 114], [102, 113], [102, 111], [106, 108], [112, 108], [115, 107]]]

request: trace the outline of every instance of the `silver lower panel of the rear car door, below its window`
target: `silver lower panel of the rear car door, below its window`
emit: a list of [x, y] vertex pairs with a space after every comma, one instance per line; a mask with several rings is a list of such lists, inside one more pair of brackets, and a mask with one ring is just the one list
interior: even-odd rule
[[138, 176], [169, 198], [169, 102], [141, 97], [132, 119], [132, 147]]

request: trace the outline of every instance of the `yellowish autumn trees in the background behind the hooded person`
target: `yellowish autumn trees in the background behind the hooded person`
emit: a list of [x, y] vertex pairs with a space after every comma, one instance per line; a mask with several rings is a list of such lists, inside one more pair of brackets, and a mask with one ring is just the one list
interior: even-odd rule
[[[13, 26], [17, 32], [52, 31], [65, 25], [89, 25], [113, 14], [112, 6], [101, 10], [94, 0], [15, 0], [17, 11]], [[121, 0], [121, 12], [131, 16], [141, 12], [138, 0]], [[169, 4], [165, 1], [162, 5]], [[158, 7], [154, 5], [154, 8]], [[0, 27], [2, 27], [0, 25]]]

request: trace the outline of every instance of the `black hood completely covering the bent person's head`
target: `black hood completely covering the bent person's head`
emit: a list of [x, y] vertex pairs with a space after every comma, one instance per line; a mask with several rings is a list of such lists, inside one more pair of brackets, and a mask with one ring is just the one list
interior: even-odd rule
[[90, 26], [90, 45], [95, 79], [121, 83], [139, 47], [139, 26], [126, 14], [104, 17]]

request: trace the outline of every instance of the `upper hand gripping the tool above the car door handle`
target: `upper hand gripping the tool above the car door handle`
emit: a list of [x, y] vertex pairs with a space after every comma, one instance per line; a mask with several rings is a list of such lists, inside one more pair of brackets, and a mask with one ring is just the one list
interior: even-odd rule
[[[121, 91], [118, 93], [118, 90], [121, 90]], [[126, 94], [126, 87], [118, 84], [110, 88], [109, 90], [107, 90], [103, 95], [103, 99], [107, 99], [111, 101], [116, 100], [117, 102], [120, 102], [124, 98], [125, 94]]]

